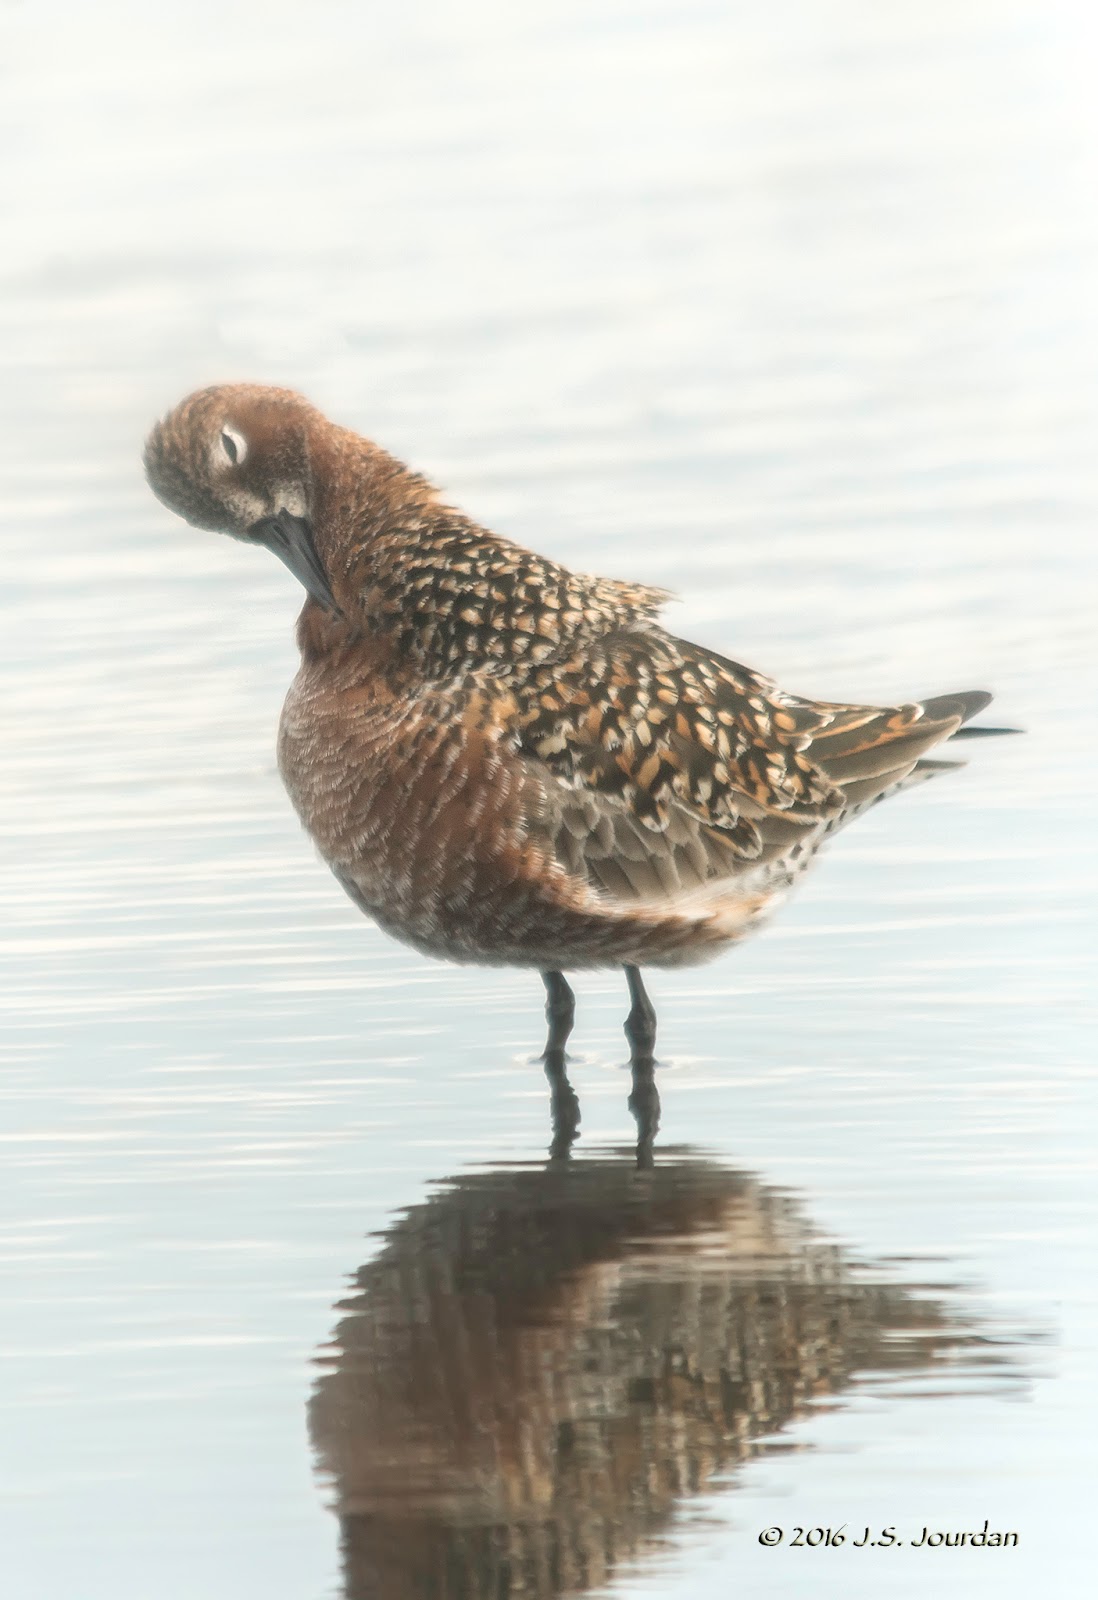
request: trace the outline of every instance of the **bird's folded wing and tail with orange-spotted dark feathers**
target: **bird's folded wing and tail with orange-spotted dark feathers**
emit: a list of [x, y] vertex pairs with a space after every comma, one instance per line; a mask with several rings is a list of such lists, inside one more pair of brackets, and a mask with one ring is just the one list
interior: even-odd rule
[[655, 629], [607, 635], [509, 688], [515, 749], [555, 779], [559, 859], [632, 899], [675, 899], [795, 851], [986, 704], [807, 701]]

